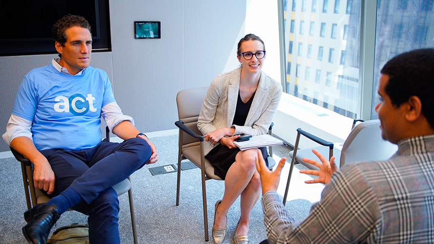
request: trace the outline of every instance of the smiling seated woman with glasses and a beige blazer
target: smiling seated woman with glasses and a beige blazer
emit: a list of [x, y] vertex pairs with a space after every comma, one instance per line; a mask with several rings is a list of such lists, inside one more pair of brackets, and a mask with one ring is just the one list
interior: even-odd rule
[[[241, 66], [217, 75], [197, 121], [197, 127], [209, 142], [205, 143], [205, 156], [213, 164], [214, 173], [225, 180], [223, 199], [215, 205], [213, 238], [217, 244], [226, 236], [226, 215], [238, 196], [241, 215], [234, 243], [249, 243], [250, 212], [260, 198], [261, 189], [255, 165], [258, 149], [240, 151], [234, 140], [239, 134], [267, 133], [279, 105], [282, 86], [261, 71], [265, 56], [265, 45], [258, 36], [243, 37], [237, 50]], [[266, 160], [266, 148], [259, 149]]]

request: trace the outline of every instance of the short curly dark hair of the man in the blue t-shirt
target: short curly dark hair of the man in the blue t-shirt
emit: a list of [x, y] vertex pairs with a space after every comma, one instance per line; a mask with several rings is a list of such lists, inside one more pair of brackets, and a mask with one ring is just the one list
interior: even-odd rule
[[90, 32], [90, 35], [92, 35], [90, 24], [84, 17], [68, 14], [62, 17], [53, 25], [53, 29], [51, 30], [53, 35], [53, 44], [55, 45], [56, 42], [58, 42], [62, 46], [65, 46], [67, 38], [66, 30], [74, 26], [87, 28]]

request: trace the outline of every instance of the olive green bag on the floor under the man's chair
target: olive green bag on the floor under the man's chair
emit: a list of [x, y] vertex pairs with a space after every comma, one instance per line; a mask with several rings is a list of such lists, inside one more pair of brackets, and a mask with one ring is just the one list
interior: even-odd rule
[[47, 244], [89, 244], [89, 226], [73, 223], [56, 229]]

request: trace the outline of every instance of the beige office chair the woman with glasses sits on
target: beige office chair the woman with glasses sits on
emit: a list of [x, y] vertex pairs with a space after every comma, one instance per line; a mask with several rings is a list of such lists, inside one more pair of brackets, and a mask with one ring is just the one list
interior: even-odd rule
[[[202, 201], [203, 201], [203, 222], [205, 228], [205, 241], [208, 241], [208, 214], [206, 203], [205, 180], [217, 179], [222, 180], [214, 174], [214, 167], [205, 158], [204, 155], [204, 138], [197, 128], [197, 119], [202, 107], [203, 98], [208, 87], [185, 89], [176, 95], [176, 104], [178, 107], [178, 118], [175, 122], [179, 128], [179, 148], [178, 148], [178, 178], [176, 183], [176, 206], [179, 205], [179, 188], [181, 180], [181, 161], [188, 159], [201, 170], [202, 180]], [[270, 125], [268, 132], [271, 134], [273, 123]], [[268, 168], [271, 169], [275, 160], [271, 157], [271, 151], [268, 154]]]

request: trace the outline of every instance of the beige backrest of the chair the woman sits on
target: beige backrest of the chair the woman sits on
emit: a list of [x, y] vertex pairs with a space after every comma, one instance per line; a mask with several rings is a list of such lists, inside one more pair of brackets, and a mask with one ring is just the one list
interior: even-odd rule
[[[207, 90], [208, 87], [184, 89], [176, 95], [179, 120], [198, 135], [202, 133], [197, 129], [197, 119]], [[189, 145], [190, 143], [197, 144], [198, 140], [192, 136], [182, 136], [182, 145]]]

